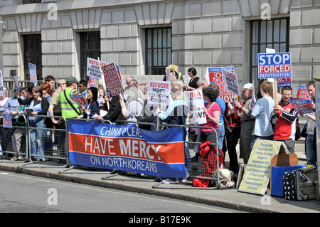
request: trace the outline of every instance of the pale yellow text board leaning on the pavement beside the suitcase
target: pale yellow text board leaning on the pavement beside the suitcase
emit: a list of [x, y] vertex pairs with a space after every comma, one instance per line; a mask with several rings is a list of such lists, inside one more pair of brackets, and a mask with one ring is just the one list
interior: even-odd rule
[[238, 191], [264, 196], [271, 176], [271, 160], [275, 154], [289, 154], [283, 142], [257, 139]]

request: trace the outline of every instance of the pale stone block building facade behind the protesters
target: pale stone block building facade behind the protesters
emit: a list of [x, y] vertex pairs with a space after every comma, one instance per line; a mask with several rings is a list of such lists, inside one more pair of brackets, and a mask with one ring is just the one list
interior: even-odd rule
[[94, 53], [139, 82], [172, 63], [185, 80], [190, 67], [204, 76], [208, 66], [233, 66], [240, 86], [256, 85], [266, 47], [292, 53], [294, 87], [320, 75], [319, 0], [1, 0], [0, 16], [9, 79], [27, 80], [29, 60], [39, 78], [82, 79]]

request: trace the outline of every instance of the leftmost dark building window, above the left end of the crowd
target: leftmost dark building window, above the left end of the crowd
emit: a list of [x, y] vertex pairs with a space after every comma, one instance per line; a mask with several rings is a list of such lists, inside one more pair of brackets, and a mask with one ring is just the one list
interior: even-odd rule
[[41, 34], [23, 36], [23, 56], [26, 80], [30, 80], [28, 63], [36, 65], [37, 80], [42, 80]]

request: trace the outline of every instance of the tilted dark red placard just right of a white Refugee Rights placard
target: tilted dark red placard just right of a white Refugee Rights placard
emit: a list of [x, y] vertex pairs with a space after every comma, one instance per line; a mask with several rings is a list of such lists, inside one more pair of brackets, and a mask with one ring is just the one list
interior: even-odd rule
[[103, 75], [105, 76], [105, 84], [108, 86], [110, 95], [119, 95], [124, 93], [119, 70], [117, 70], [114, 63], [102, 67]]

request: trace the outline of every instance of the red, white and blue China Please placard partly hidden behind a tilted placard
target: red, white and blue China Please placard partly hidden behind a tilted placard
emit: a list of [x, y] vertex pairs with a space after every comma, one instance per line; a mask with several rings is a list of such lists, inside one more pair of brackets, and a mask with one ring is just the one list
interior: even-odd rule
[[235, 73], [233, 66], [230, 67], [208, 67], [206, 71], [206, 79], [208, 83], [215, 83], [219, 87], [219, 97], [224, 102], [232, 102], [235, 95], [225, 89], [225, 81], [223, 80], [223, 69]]

